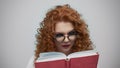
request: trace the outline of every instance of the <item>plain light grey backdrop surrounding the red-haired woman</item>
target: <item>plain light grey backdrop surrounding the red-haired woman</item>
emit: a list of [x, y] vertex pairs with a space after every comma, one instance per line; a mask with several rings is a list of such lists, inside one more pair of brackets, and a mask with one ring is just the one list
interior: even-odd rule
[[62, 4], [83, 15], [100, 54], [98, 68], [120, 68], [119, 0], [0, 0], [0, 68], [26, 68], [39, 22]]

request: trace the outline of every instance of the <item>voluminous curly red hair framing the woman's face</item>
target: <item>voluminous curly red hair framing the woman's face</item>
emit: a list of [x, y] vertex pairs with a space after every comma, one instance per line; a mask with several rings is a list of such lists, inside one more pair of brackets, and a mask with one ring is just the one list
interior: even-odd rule
[[89, 38], [88, 26], [81, 19], [81, 15], [68, 4], [63, 6], [59, 5], [48, 11], [46, 17], [40, 24], [40, 28], [38, 28], [35, 60], [42, 52], [56, 51], [54, 34], [55, 25], [59, 21], [71, 22], [75, 31], [78, 32], [75, 44], [72, 47], [72, 52], [93, 49], [92, 42]]

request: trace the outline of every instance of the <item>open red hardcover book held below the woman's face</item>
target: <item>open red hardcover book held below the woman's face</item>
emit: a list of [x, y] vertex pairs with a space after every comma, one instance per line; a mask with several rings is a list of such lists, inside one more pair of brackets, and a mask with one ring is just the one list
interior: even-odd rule
[[35, 68], [97, 68], [96, 50], [74, 52], [66, 56], [61, 52], [45, 52], [35, 62]]

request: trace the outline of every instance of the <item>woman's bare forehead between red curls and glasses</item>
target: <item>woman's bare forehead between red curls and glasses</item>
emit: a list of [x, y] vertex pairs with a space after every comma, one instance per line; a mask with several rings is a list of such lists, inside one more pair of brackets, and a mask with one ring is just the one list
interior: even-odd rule
[[71, 22], [57, 22], [55, 25], [55, 32], [59, 33], [68, 33], [69, 31], [73, 30], [74, 27]]

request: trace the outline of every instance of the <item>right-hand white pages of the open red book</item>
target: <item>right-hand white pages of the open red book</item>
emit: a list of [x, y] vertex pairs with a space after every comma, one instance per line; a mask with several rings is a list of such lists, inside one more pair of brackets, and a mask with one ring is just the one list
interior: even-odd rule
[[97, 51], [87, 50], [87, 51], [74, 52], [74, 53], [69, 54], [67, 58], [70, 59], [70, 58], [84, 57], [84, 56], [91, 56], [91, 55], [97, 55]]

